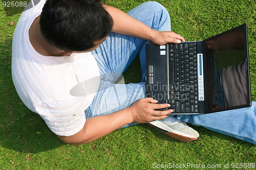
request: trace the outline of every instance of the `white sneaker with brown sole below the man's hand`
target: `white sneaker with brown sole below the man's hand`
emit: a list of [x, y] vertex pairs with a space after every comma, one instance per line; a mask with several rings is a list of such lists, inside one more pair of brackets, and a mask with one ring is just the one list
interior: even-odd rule
[[171, 118], [175, 119], [175, 122], [173, 122], [173, 120], [171, 122], [156, 120], [149, 123], [149, 125], [180, 141], [191, 142], [200, 138], [200, 135], [196, 130], [190, 128], [181, 120], [173, 117]]

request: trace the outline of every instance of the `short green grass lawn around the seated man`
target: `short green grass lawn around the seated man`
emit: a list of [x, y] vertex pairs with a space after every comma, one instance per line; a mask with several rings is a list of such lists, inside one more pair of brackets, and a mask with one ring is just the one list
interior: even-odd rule
[[[127, 12], [143, 2], [146, 1], [108, 0], [106, 4]], [[255, 101], [256, 2], [158, 2], [169, 11], [172, 31], [186, 40], [203, 40], [247, 23], [251, 95]], [[223, 169], [217, 168], [218, 164], [223, 167], [229, 163], [228, 169], [235, 169], [231, 168], [231, 163], [256, 162], [255, 145], [196, 126], [191, 127], [200, 133], [201, 138], [191, 143], [169, 138], [146, 125], [119, 129], [87, 144], [71, 146], [61, 142], [44, 120], [20, 101], [12, 83], [12, 36], [19, 15], [7, 17], [0, 5], [0, 169], [153, 169], [153, 163], [216, 165], [211, 169]], [[10, 21], [14, 21], [13, 26], [9, 26]], [[124, 76], [127, 83], [140, 81], [138, 58]]]

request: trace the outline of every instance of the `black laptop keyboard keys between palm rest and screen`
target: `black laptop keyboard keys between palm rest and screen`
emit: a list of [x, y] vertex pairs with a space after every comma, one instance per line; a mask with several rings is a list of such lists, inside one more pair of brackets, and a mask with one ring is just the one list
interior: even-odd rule
[[196, 43], [169, 44], [170, 99], [173, 113], [198, 112]]

